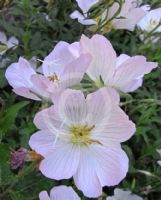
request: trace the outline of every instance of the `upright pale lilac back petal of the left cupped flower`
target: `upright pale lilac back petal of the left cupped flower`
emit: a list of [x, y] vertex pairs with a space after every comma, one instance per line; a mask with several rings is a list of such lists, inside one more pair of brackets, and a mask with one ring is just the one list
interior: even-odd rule
[[73, 60], [73, 55], [68, 50], [70, 44], [59, 42], [53, 51], [44, 59], [42, 69], [45, 76], [52, 76], [54, 73], [59, 77], [64, 66]]

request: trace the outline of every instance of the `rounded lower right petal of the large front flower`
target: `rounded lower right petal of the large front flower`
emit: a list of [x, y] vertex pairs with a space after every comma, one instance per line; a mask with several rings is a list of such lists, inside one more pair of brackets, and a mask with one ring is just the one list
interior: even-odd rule
[[117, 148], [95, 145], [91, 150], [95, 159], [95, 170], [101, 186], [118, 185], [128, 172], [128, 157]]

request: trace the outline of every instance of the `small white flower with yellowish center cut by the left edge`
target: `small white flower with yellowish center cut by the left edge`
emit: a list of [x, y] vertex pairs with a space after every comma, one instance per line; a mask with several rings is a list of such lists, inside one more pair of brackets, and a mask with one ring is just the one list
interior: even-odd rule
[[18, 46], [19, 41], [14, 36], [7, 40], [7, 36], [4, 32], [0, 32], [0, 55], [3, 55], [8, 49]]

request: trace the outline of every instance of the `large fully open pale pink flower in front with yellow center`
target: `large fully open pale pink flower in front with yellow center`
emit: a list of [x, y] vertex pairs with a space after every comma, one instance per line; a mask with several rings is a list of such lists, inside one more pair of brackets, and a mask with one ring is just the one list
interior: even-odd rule
[[119, 95], [102, 88], [84, 97], [65, 90], [54, 106], [34, 119], [40, 131], [29, 140], [44, 160], [40, 171], [61, 180], [73, 176], [78, 189], [98, 197], [103, 186], [117, 185], [128, 171], [128, 158], [120, 143], [135, 132], [135, 125], [119, 107]]

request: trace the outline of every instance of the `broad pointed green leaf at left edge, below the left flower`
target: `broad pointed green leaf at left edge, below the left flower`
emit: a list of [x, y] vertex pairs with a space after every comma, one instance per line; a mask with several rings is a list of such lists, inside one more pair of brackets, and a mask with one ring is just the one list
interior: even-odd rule
[[5, 111], [3, 111], [0, 114], [0, 137], [1, 138], [13, 126], [15, 119], [17, 117], [18, 111], [20, 109], [24, 108], [28, 104], [29, 104], [28, 101], [19, 102], [13, 106], [7, 108]]

